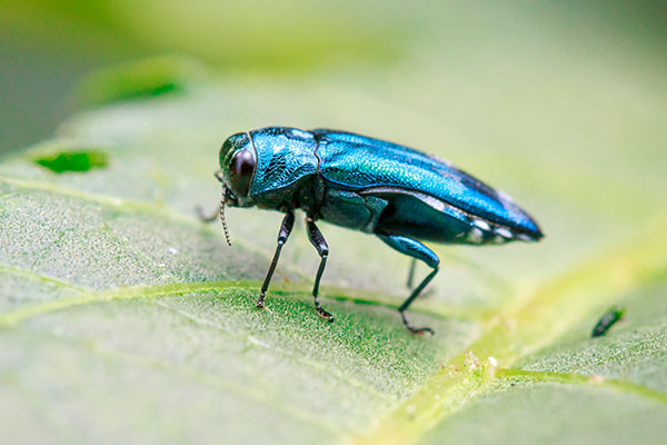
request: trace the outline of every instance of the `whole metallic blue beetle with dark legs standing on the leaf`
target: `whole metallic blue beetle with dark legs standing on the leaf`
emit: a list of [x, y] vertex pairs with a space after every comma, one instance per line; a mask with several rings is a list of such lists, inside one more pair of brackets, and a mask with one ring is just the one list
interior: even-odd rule
[[[436, 276], [440, 263], [421, 241], [485, 245], [537, 241], [544, 236], [535, 219], [509, 196], [450, 162], [351, 132], [288, 127], [239, 132], [222, 145], [216, 177], [222, 182], [219, 216], [228, 244], [226, 206], [285, 212], [258, 308], [265, 306], [280, 250], [295, 224], [295, 209], [306, 212], [308, 238], [320, 257], [312, 288], [315, 307], [329, 322], [334, 316], [318, 299], [329, 256], [318, 219], [374, 234], [431, 268], [398, 308], [404, 324], [415, 334], [434, 333], [428, 327], [414, 327], [405, 313]], [[212, 220], [217, 215], [200, 216]]]

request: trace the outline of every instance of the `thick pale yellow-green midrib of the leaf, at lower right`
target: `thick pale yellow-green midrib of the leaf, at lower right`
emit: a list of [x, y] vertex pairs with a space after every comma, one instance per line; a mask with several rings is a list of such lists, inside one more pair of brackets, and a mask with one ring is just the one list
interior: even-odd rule
[[[472, 345], [378, 422], [368, 435], [355, 442], [401, 445], [418, 442], [449, 415], [492, 388], [498, 373], [488, 357], [494, 357], [500, 368], [511, 368], [521, 357], [552, 344], [590, 310], [663, 274], [667, 268], [666, 224], [667, 218], [660, 218], [638, 239], [584, 263], [536, 290], [519, 308], [500, 314]], [[580, 298], [583, 290], [586, 298]], [[635, 394], [651, 394], [651, 398], [667, 402], [667, 395], [633, 385]]]

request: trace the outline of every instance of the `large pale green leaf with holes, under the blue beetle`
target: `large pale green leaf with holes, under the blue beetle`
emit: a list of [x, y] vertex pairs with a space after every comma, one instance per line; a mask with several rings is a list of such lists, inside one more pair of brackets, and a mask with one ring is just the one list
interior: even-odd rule
[[[391, 70], [270, 81], [161, 59], [97, 75], [81, 90], [97, 108], [0, 164], [2, 442], [660, 443], [660, 62], [628, 50], [644, 63], [619, 73], [549, 29], [517, 46], [529, 20], [479, 20], [497, 47], [415, 50]], [[319, 319], [317, 255], [297, 225], [258, 310], [280, 215], [230, 209], [227, 247], [193, 208], [219, 199], [222, 140], [265, 125], [450, 158], [515, 196], [547, 239], [434, 246], [441, 271], [410, 310], [431, 338], [395, 310], [409, 260], [327, 224], [336, 322]], [[624, 319], [590, 338], [613, 305]]]

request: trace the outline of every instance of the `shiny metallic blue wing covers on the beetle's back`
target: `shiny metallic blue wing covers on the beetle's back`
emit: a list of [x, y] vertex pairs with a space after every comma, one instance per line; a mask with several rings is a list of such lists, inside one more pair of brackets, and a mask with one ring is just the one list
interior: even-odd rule
[[430, 200], [434, 208], [444, 202], [447, 211], [481, 228], [488, 224], [500, 234], [508, 229], [525, 240], [542, 236], [535, 220], [509, 196], [446, 160], [360, 135], [327, 129], [312, 132], [319, 142], [320, 175], [331, 186], [356, 192], [377, 190], [379, 195], [394, 190], [427, 204]]

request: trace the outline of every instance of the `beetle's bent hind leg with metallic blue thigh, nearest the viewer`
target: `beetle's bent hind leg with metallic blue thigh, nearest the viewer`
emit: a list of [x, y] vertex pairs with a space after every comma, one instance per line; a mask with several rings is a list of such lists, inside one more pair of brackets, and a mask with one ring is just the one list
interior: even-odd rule
[[417, 286], [412, 290], [410, 296], [398, 308], [404, 325], [406, 325], [409, 332], [414, 334], [430, 333], [432, 335], [434, 329], [431, 329], [430, 327], [414, 327], [406, 318], [406, 310], [415, 300], [415, 298], [417, 298], [419, 294], [421, 294], [421, 290], [424, 290], [424, 288], [431, 281], [431, 279], [434, 279], [434, 277], [438, 273], [440, 258], [438, 258], [438, 256], [431, 249], [412, 238], [404, 237], [400, 235], [378, 235], [378, 237], [391, 248], [400, 251], [401, 254], [409, 255], [415, 259], [419, 259], [424, 261], [427, 266], [432, 268], [432, 270], [421, 280], [419, 286]]

